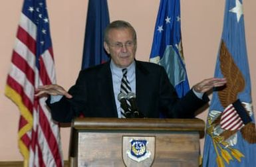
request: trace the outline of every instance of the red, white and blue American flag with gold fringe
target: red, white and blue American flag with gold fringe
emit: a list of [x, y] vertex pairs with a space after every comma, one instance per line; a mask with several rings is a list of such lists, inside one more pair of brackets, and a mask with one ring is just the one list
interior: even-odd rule
[[55, 84], [55, 66], [45, 0], [25, 0], [5, 94], [19, 107], [19, 149], [24, 166], [63, 166], [59, 126], [35, 97], [40, 85]]

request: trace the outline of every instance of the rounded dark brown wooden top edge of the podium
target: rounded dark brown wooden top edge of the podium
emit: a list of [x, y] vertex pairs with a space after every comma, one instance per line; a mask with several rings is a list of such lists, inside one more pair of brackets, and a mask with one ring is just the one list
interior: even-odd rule
[[197, 131], [203, 132], [205, 123], [201, 119], [118, 119], [76, 118], [72, 128], [76, 130], [132, 130], [132, 131]]

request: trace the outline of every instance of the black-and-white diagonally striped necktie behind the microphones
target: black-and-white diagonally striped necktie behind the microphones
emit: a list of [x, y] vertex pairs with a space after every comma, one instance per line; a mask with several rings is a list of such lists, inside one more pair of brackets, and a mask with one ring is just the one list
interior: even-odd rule
[[[122, 80], [121, 80], [121, 89], [120, 89], [120, 92], [121, 93], [124, 93], [127, 95], [127, 93], [129, 93], [130, 91], [132, 91], [131, 87], [130, 87], [130, 83], [128, 82], [127, 80], [127, 68], [124, 68], [122, 69]], [[130, 103], [128, 100], [127, 101], [127, 105], [128, 105], [128, 109], [130, 110]], [[125, 116], [125, 111], [124, 109], [121, 107], [121, 115], [122, 115], [122, 118], [126, 118]]]

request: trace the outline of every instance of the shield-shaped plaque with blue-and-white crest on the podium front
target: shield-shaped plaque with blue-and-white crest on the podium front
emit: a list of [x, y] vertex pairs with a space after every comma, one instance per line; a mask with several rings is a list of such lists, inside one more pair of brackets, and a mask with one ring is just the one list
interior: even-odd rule
[[154, 160], [155, 137], [123, 137], [124, 164], [147, 164]]

